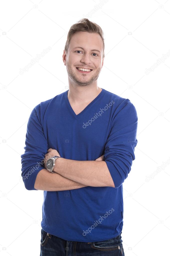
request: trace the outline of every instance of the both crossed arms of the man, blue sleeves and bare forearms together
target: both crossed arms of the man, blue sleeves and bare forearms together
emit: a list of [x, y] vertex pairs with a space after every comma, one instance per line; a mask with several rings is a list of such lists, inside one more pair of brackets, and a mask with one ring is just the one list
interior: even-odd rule
[[25, 152], [21, 155], [22, 178], [28, 190], [62, 191], [85, 186], [118, 188], [124, 182], [131, 170], [132, 161], [135, 160], [134, 149], [138, 142], [137, 112], [129, 99], [115, 106], [104, 148], [104, 161], [75, 161], [61, 157], [55, 161], [56, 173], [46, 170], [45, 164], [44, 167], [39, 166], [36, 172], [30, 170], [37, 162], [42, 161], [47, 151], [55, 151], [52, 156], [59, 155], [56, 150], [48, 149], [48, 141], [41, 123], [40, 107], [41, 104], [38, 104], [31, 112], [27, 125]]

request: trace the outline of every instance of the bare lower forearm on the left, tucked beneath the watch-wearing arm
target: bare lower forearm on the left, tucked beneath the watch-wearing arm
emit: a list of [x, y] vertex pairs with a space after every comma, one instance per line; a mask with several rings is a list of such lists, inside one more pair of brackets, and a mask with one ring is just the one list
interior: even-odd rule
[[42, 169], [36, 176], [34, 188], [45, 191], [62, 191], [87, 187], [71, 179], [67, 179], [58, 173], [50, 173]]

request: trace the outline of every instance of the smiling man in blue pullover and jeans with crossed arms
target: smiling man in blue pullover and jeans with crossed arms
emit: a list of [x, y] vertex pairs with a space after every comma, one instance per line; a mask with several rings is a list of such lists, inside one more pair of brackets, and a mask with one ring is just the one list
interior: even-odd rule
[[[44, 190], [41, 255], [124, 255], [123, 187], [137, 145], [129, 99], [97, 86], [101, 28], [72, 25], [63, 53], [69, 90], [31, 112], [21, 155], [28, 190]], [[107, 81], [108, 82], [108, 81]]]

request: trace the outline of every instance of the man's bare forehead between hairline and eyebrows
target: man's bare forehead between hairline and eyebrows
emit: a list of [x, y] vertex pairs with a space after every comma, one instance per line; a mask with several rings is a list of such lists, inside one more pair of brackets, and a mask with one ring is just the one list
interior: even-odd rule
[[69, 49], [73, 49], [74, 47], [83, 47], [85, 50], [89, 51], [91, 49], [98, 49], [101, 51], [103, 41], [97, 33], [78, 31], [75, 32], [70, 39]]

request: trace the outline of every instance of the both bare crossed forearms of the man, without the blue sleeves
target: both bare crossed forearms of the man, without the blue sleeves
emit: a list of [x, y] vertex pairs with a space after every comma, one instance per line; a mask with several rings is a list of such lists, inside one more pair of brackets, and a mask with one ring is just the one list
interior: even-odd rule
[[[48, 152], [52, 153], [49, 150]], [[54, 155], [59, 155], [59, 153], [57, 152]], [[53, 171], [56, 174], [50, 173], [47, 169], [42, 169], [37, 174], [34, 188], [37, 190], [60, 191], [86, 186], [114, 187], [113, 179], [106, 162], [103, 161], [103, 156], [95, 161], [76, 161], [61, 157], [56, 159]]]

